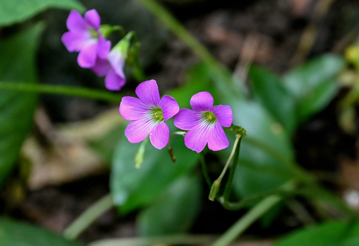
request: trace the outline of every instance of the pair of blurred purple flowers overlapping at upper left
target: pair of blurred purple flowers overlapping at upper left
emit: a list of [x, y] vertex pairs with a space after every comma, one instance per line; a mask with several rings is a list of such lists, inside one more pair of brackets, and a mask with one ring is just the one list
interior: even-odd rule
[[111, 49], [111, 42], [101, 34], [100, 22], [94, 9], [87, 11], [84, 18], [76, 10], [71, 10], [66, 20], [69, 31], [62, 35], [61, 40], [68, 51], [79, 52], [77, 61], [80, 67], [90, 68], [98, 76], [106, 75], [106, 88], [120, 90], [126, 83], [123, 66], [128, 40], [124, 38]]

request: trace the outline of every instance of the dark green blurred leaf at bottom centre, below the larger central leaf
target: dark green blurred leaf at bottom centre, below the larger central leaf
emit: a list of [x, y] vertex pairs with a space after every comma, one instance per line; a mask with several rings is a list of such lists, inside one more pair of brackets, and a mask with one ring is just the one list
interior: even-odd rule
[[201, 182], [183, 176], [138, 218], [140, 235], [154, 236], [187, 232], [200, 211]]

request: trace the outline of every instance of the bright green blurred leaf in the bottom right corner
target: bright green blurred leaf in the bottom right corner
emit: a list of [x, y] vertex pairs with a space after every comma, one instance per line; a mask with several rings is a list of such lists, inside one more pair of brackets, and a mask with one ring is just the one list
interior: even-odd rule
[[357, 246], [359, 223], [331, 221], [299, 229], [273, 246]]

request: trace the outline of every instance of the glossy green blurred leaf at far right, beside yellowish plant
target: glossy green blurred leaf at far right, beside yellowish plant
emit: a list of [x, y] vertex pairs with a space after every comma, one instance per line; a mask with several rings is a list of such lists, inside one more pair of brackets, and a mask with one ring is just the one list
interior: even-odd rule
[[298, 104], [298, 120], [302, 122], [325, 107], [335, 96], [335, 76], [343, 69], [344, 58], [326, 54], [294, 68], [284, 77], [284, 86]]

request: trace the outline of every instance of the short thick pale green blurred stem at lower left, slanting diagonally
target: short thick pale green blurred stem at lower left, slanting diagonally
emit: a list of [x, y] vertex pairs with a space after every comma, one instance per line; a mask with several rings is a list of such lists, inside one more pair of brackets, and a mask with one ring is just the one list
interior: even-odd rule
[[113, 199], [111, 194], [105, 195], [103, 198], [95, 202], [85, 212], [83, 212], [64, 232], [64, 237], [73, 240], [78, 237], [92, 222], [94, 222], [104, 212], [113, 207]]

